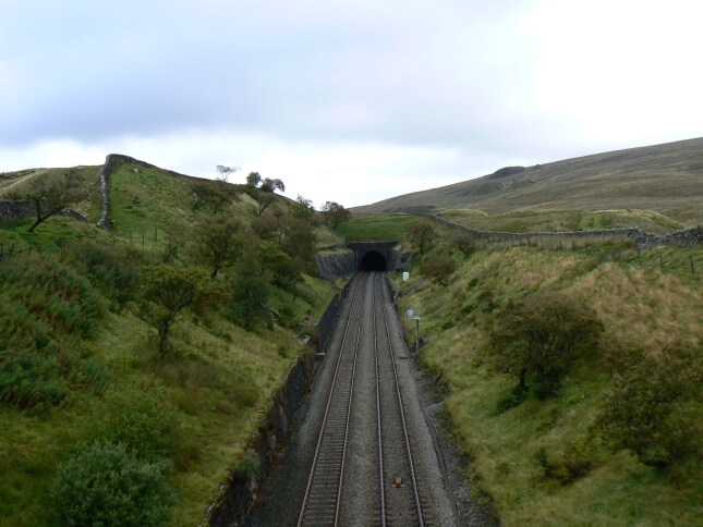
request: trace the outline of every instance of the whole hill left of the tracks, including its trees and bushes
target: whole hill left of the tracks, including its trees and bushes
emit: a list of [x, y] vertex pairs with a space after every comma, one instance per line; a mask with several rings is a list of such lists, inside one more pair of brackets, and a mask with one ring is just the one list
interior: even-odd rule
[[256, 469], [247, 444], [335, 293], [311, 274], [337, 237], [301, 204], [122, 157], [106, 231], [101, 170], [0, 175], [2, 200], [77, 173], [68, 205], [89, 220], [0, 218], [2, 525], [99, 522], [81, 511], [100, 495], [71, 483], [96, 474], [142, 514], [111, 524], [198, 524]]

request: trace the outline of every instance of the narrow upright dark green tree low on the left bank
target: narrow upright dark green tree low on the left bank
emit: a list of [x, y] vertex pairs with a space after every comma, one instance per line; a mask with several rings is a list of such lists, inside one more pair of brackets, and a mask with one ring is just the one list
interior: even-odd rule
[[257, 322], [269, 316], [266, 307], [268, 282], [255, 272], [258, 266], [255, 252], [247, 250], [237, 264], [232, 280], [232, 308], [246, 331], [254, 329]]

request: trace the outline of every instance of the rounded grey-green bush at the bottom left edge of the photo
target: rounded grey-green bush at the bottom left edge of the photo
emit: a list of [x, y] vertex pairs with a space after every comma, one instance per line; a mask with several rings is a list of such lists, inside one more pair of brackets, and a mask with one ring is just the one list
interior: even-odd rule
[[59, 466], [54, 511], [64, 525], [165, 525], [177, 501], [168, 469], [122, 444], [93, 443]]

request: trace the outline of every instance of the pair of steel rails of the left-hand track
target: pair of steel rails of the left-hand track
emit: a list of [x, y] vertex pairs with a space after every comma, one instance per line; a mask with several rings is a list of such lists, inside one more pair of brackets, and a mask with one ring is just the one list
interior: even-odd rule
[[[360, 282], [361, 282], [361, 280], [360, 280]], [[342, 342], [340, 344], [339, 357], [337, 357], [337, 364], [335, 366], [335, 375], [332, 377], [332, 382], [331, 382], [331, 385], [330, 385], [330, 389], [329, 389], [329, 396], [327, 397], [327, 405], [325, 407], [325, 415], [323, 417], [323, 424], [320, 426], [319, 434], [317, 437], [317, 445], [315, 448], [315, 456], [313, 458], [313, 464], [312, 464], [312, 467], [311, 467], [311, 470], [310, 470], [310, 477], [307, 479], [307, 486], [305, 488], [305, 497], [303, 499], [303, 504], [301, 506], [300, 516], [298, 518], [299, 527], [303, 526], [303, 525], [306, 525], [305, 516], [306, 516], [306, 513], [308, 512], [308, 506], [311, 504], [311, 495], [312, 495], [311, 491], [312, 491], [312, 488], [313, 488], [313, 481], [315, 479], [315, 475], [317, 474], [316, 470], [318, 469], [318, 462], [319, 462], [319, 458], [320, 458], [320, 450], [322, 450], [322, 446], [323, 446], [323, 443], [324, 443], [325, 432], [327, 431], [327, 426], [328, 426], [328, 422], [329, 422], [329, 409], [330, 409], [330, 406], [331, 406], [331, 403], [332, 403], [332, 400], [334, 400], [334, 396], [335, 396], [335, 388], [337, 385], [337, 379], [338, 379], [338, 376], [339, 376], [339, 369], [340, 369], [340, 365], [342, 363], [342, 357], [344, 355], [344, 344], [347, 343], [347, 338], [349, 335], [349, 328], [350, 328], [351, 320], [352, 320], [353, 315], [354, 315], [354, 306], [356, 305], [356, 299], [357, 299], [359, 289], [360, 287], [362, 287], [362, 285], [360, 285], [359, 282], [355, 283], [354, 293], [353, 293], [353, 296], [352, 296], [352, 303], [351, 303], [351, 306], [349, 308], [349, 316], [347, 317], [347, 322], [344, 324], [344, 335], [343, 335]], [[363, 295], [362, 295], [362, 298], [363, 298]], [[361, 307], [363, 307], [363, 305]], [[349, 395], [348, 395], [349, 396], [349, 404], [347, 406], [347, 419], [346, 419], [346, 424], [344, 424], [342, 459], [341, 459], [341, 465], [340, 465], [340, 469], [339, 469], [339, 475], [337, 477], [338, 491], [337, 491], [337, 498], [336, 498], [336, 504], [335, 504], [334, 525], [337, 525], [337, 518], [339, 517], [339, 502], [340, 502], [339, 498], [340, 498], [340, 494], [341, 494], [341, 481], [342, 481], [342, 474], [343, 474], [343, 463], [344, 463], [344, 457], [346, 457], [346, 454], [347, 454], [347, 433], [348, 433], [348, 430], [349, 430], [349, 414], [350, 414], [350, 409], [351, 409], [351, 399], [352, 399], [352, 391], [353, 391], [353, 376], [354, 376], [355, 370], [356, 370], [356, 352], [359, 350], [359, 334], [361, 333], [361, 331], [360, 331], [361, 330], [361, 310], [362, 309], [360, 308], [359, 328], [357, 328], [357, 331], [356, 331], [356, 343], [355, 343], [355, 347], [354, 347], [354, 359], [353, 359], [353, 366], [352, 366], [352, 380], [351, 380], [351, 385], [350, 385], [350, 389], [349, 389], [349, 392], [348, 392], [349, 393]], [[338, 328], [340, 326], [338, 326]], [[332, 342], [332, 341], [330, 341], [330, 342]]]

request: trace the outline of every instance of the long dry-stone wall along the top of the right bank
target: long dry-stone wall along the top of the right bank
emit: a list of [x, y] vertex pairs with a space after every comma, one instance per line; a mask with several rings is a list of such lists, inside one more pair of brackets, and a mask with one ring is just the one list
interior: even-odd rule
[[674, 245], [677, 247], [694, 247], [703, 243], [703, 225], [682, 229], [671, 234], [654, 234], [645, 232], [634, 226], [630, 229], [601, 229], [597, 231], [547, 231], [547, 232], [501, 232], [501, 231], [480, 231], [460, 223], [454, 223], [439, 216], [428, 215], [431, 218], [440, 223], [445, 223], [454, 229], [471, 233], [476, 237], [498, 238], [506, 241], [529, 240], [541, 236], [552, 236], [558, 238], [579, 238], [586, 236], [621, 236], [631, 240], [638, 248], [649, 249], [659, 245]]

